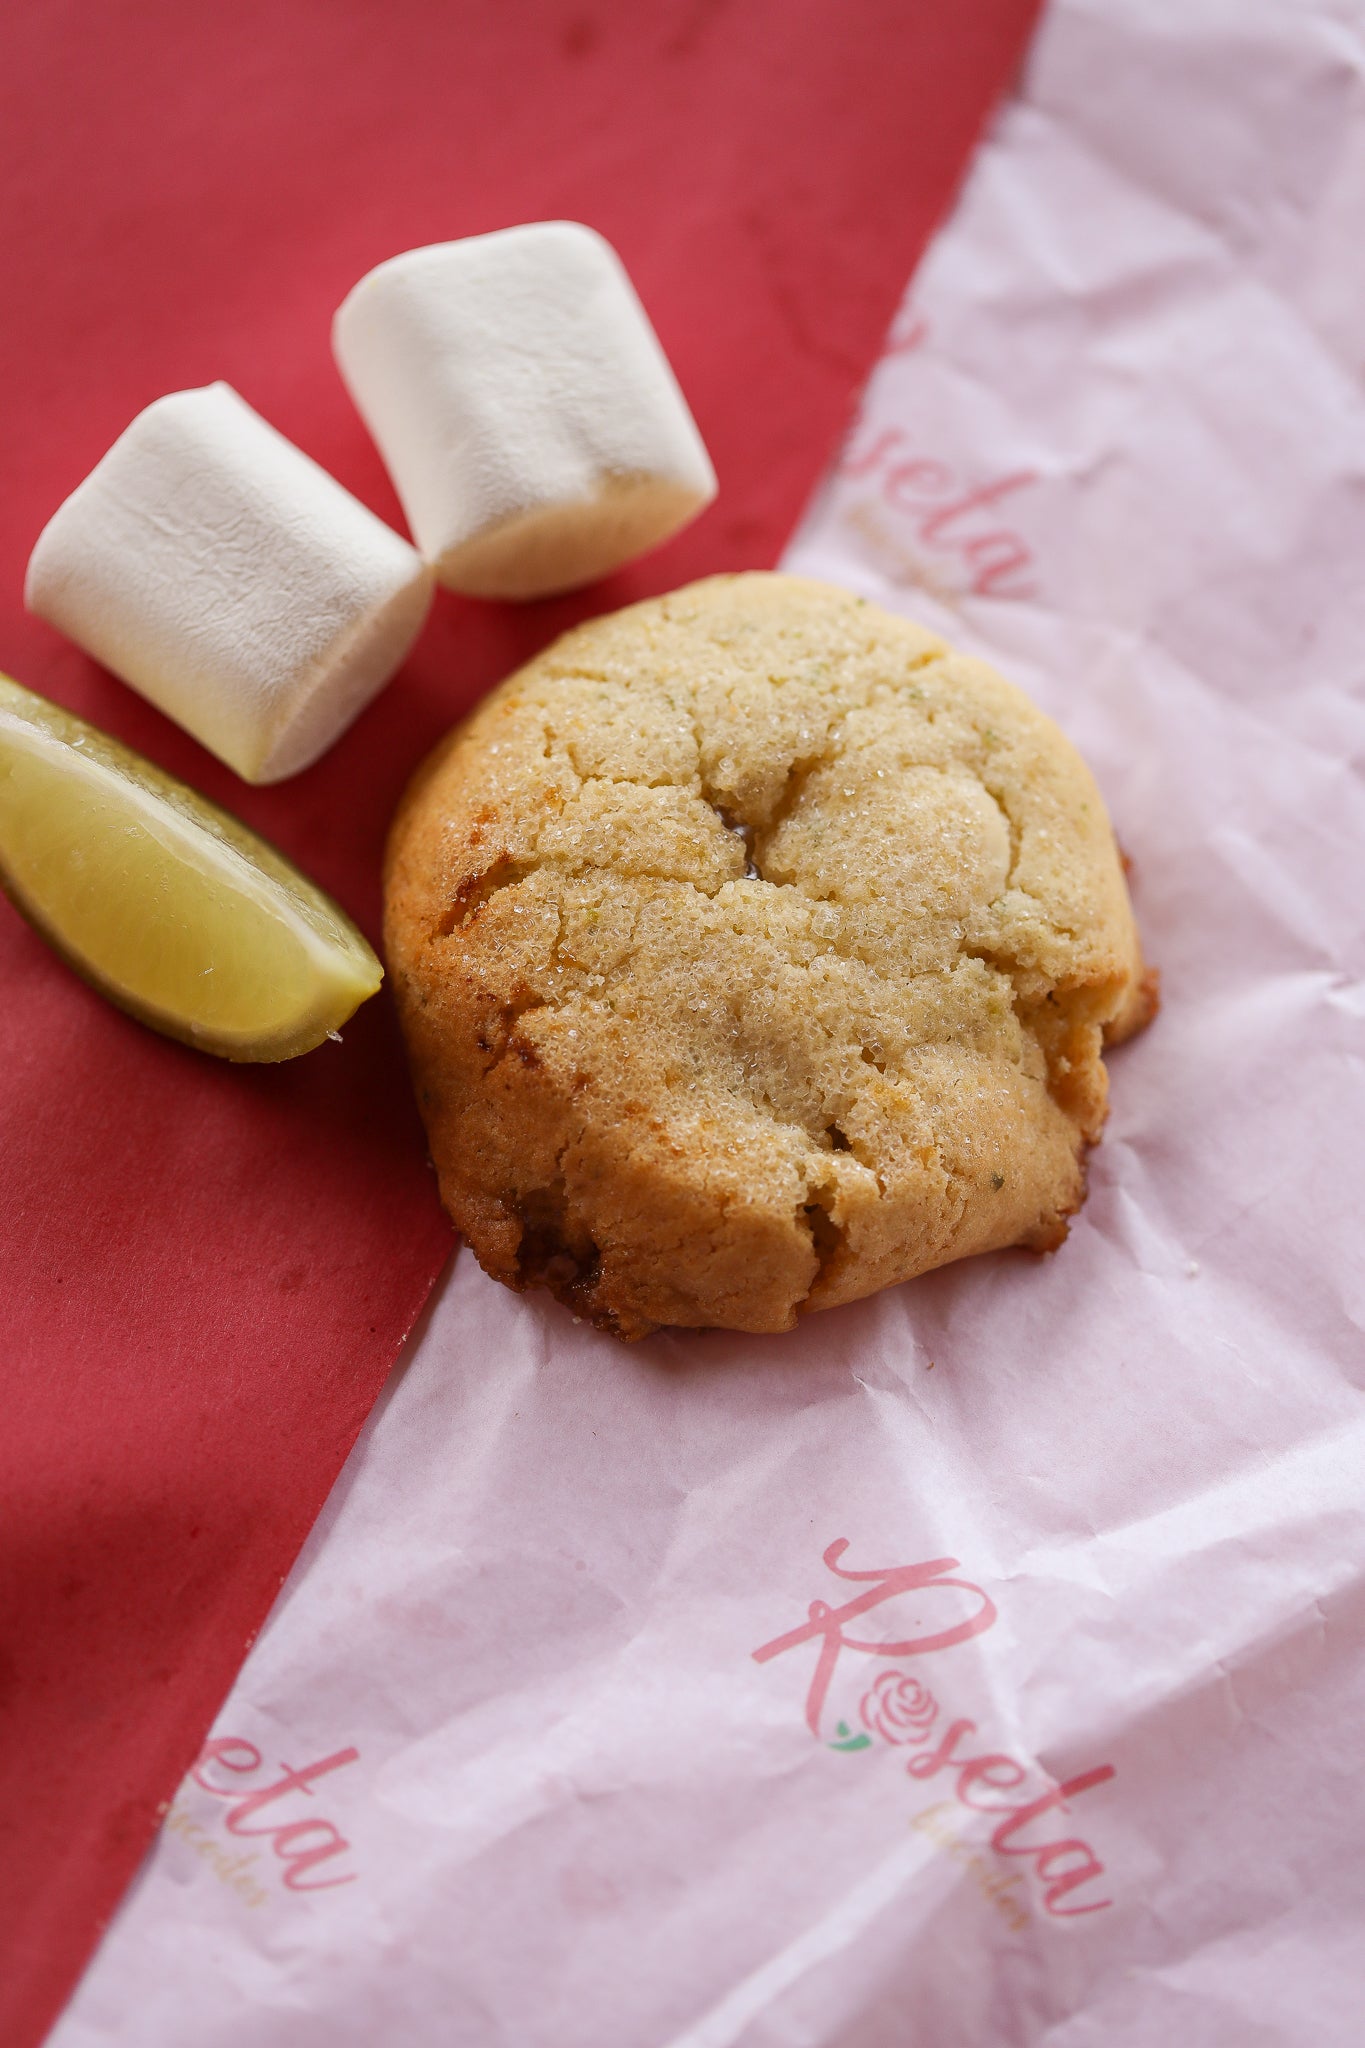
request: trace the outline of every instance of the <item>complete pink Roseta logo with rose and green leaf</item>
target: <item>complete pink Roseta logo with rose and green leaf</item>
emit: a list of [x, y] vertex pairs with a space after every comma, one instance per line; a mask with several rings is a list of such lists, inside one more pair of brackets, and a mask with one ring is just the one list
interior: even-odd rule
[[[943, 1774], [952, 1786], [952, 1800], [939, 1800], [919, 1812], [915, 1827], [968, 1864], [982, 1894], [1013, 1915], [1011, 1925], [1023, 1925], [1019, 1903], [1007, 1896], [1007, 1888], [1019, 1882], [1017, 1874], [1001, 1878], [986, 1870], [982, 1855], [958, 1837], [952, 1812], [968, 1821], [976, 1815], [990, 1819], [986, 1847], [997, 1858], [1019, 1858], [1040, 1892], [1044, 1913], [1052, 1919], [1101, 1913], [1113, 1903], [1111, 1898], [1074, 1898], [1074, 1894], [1101, 1878], [1105, 1866], [1083, 1837], [1058, 1837], [1052, 1817], [1070, 1812], [1070, 1802], [1083, 1792], [1107, 1784], [1115, 1776], [1113, 1765], [1101, 1763], [1056, 1784], [1048, 1782], [1036, 1763], [1021, 1763], [1005, 1751], [968, 1749], [978, 1733], [976, 1722], [958, 1718], [943, 1729], [939, 1700], [915, 1673], [898, 1671], [886, 1659], [927, 1657], [984, 1634], [997, 1620], [995, 1602], [972, 1579], [956, 1577], [960, 1569], [956, 1556], [880, 1571], [845, 1571], [839, 1561], [847, 1548], [847, 1538], [833, 1542], [825, 1550], [825, 1567], [837, 1579], [866, 1589], [839, 1606], [812, 1599], [798, 1628], [753, 1651], [755, 1663], [769, 1663], [808, 1645], [817, 1647], [806, 1690], [806, 1726], [825, 1739], [823, 1714], [841, 1657], [847, 1651], [876, 1657], [886, 1667], [872, 1679], [857, 1708], [866, 1733], [853, 1733], [847, 1720], [839, 1720], [827, 1747], [843, 1753], [880, 1745], [915, 1747], [915, 1755], [905, 1759], [911, 1780], [925, 1782]], [[876, 1610], [888, 1610], [882, 1614], [888, 1632], [880, 1638], [864, 1634], [866, 1616]], [[933, 1747], [927, 1747], [931, 1741]]]

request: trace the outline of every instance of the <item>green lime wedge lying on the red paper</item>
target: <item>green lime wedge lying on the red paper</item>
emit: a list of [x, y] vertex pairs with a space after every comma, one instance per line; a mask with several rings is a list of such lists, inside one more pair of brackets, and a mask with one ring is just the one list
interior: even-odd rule
[[0, 885], [102, 995], [223, 1059], [307, 1053], [383, 981], [282, 854], [8, 676]]

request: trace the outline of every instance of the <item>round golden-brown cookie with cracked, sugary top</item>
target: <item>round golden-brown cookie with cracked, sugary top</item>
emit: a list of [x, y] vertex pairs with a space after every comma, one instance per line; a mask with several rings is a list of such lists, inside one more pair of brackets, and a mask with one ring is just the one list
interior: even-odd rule
[[1070, 741], [917, 625], [735, 575], [569, 633], [417, 772], [385, 930], [450, 1217], [620, 1337], [1052, 1249], [1152, 1010]]

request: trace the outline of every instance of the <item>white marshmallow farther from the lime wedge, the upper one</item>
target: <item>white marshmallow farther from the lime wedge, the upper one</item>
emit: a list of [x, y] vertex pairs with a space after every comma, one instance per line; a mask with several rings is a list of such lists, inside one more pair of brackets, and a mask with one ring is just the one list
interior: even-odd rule
[[540, 598], [665, 541], [716, 473], [620, 258], [575, 221], [409, 250], [332, 326], [450, 590]]

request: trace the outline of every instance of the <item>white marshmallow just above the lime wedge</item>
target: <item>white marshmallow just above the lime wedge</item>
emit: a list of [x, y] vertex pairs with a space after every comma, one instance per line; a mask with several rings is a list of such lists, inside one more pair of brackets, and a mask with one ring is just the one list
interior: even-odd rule
[[432, 575], [225, 385], [139, 412], [53, 514], [29, 610], [248, 782], [307, 768], [422, 629]]

